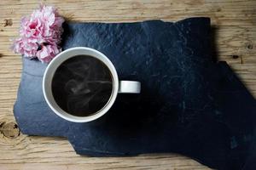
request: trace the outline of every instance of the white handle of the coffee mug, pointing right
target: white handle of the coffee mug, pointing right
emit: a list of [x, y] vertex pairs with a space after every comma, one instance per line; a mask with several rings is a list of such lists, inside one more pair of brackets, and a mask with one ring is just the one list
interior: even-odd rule
[[119, 81], [119, 94], [140, 94], [141, 82]]

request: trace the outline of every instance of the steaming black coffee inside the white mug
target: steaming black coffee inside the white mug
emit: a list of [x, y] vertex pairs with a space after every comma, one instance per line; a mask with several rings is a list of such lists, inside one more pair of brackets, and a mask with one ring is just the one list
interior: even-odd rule
[[51, 87], [63, 111], [74, 116], [89, 116], [108, 103], [113, 82], [108, 67], [101, 60], [77, 55], [57, 68]]

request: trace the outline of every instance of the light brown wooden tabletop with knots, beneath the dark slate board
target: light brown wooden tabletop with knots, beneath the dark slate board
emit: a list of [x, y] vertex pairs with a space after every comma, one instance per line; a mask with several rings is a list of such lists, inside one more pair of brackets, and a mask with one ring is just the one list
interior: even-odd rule
[[[161, 2], [161, 3], [160, 3]], [[127, 22], [181, 20], [208, 16], [215, 31], [218, 59], [226, 60], [256, 96], [255, 0], [51, 0], [69, 20]], [[0, 1], [0, 169], [207, 169], [177, 154], [92, 158], [76, 155], [63, 138], [19, 133], [13, 105], [20, 82], [20, 56], [9, 50], [20, 18], [38, 8], [38, 0]]]

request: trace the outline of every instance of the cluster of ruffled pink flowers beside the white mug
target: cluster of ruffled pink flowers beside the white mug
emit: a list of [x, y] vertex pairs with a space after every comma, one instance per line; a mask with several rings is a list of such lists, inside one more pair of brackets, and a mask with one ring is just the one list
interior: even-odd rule
[[57, 44], [61, 42], [63, 22], [54, 7], [41, 5], [30, 18], [22, 18], [20, 38], [15, 40], [13, 50], [25, 57], [38, 57], [42, 62], [49, 63], [61, 52]]

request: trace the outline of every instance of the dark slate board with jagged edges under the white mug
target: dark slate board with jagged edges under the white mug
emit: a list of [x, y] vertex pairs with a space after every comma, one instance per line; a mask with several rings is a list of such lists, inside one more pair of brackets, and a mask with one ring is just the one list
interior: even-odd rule
[[49, 109], [47, 65], [23, 59], [15, 103], [22, 133], [64, 136], [89, 156], [177, 152], [218, 169], [255, 169], [256, 102], [225, 62], [212, 62], [210, 20], [67, 23], [63, 49], [96, 48], [142, 94], [119, 94], [95, 122], [73, 123]]

